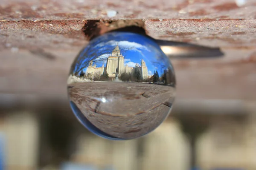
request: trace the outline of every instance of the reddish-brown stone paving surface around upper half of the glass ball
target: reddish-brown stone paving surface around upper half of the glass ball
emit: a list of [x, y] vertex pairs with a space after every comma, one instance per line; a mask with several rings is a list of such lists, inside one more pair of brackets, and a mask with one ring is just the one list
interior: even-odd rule
[[[172, 59], [178, 99], [256, 101], [256, 3], [235, 1], [0, 2], [0, 93], [67, 99], [67, 75], [88, 19], [145, 19], [151, 37], [220, 47], [216, 59]], [[106, 10], [116, 10], [108, 17]], [[163, 20], [162, 20], [163, 19]], [[125, 26], [102, 22], [99, 34]], [[141, 23], [138, 24], [141, 26]]]

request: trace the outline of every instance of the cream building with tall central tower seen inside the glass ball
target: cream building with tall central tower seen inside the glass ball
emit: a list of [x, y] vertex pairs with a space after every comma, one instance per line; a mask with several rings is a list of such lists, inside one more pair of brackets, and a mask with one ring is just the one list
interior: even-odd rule
[[[93, 65], [93, 62], [91, 61], [85, 73], [91, 74], [93, 77], [108, 74], [108, 77], [113, 79], [116, 77], [116, 68], [118, 68], [118, 62], [119, 75], [122, 73], [134, 73], [135, 67], [130, 67], [127, 64], [125, 65], [125, 57], [121, 54], [121, 50], [119, 49], [118, 45], [116, 45], [116, 47], [113, 49], [111, 56], [108, 57], [106, 67], [104, 67], [104, 64], [102, 67], [96, 67], [96, 64]], [[141, 66], [137, 63], [136, 68], [139, 68], [142, 79], [148, 79], [148, 67], [143, 59], [141, 60]]]

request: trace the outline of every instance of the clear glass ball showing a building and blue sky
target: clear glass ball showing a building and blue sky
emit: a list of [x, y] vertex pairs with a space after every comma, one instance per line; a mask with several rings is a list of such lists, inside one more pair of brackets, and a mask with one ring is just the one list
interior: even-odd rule
[[80, 51], [68, 78], [71, 108], [92, 133], [134, 139], [157, 128], [175, 98], [172, 65], [149, 37], [111, 32]]

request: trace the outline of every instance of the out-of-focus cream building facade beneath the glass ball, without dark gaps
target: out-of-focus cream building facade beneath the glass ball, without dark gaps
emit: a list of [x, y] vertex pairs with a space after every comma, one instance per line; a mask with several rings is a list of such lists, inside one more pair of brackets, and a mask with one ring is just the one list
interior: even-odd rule
[[[49, 146], [47, 134], [50, 132], [44, 132], [44, 138], [39, 137], [42, 132], [39, 121], [42, 120], [28, 112], [9, 113], [0, 121], [0, 131], [6, 136], [6, 170], [35, 170], [39, 159], [56, 159], [54, 147], [51, 149]], [[79, 122], [70, 124], [79, 125]], [[93, 166], [94, 169], [88, 170], [105, 170], [107, 167], [112, 167], [111, 170], [189, 170], [189, 134], [183, 132], [182, 126], [179, 120], [169, 118], [152, 133], [128, 141], [102, 139], [83, 132], [84, 127], [79, 126], [83, 129], [80, 135], [70, 139], [76, 149], [66, 161]], [[198, 124], [194, 126], [196, 128]], [[216, 116], [207, 126], [196, 142], [196, 164], [200, 170], [215, 170], [217, 167], [255, 170], [255, 116], [249, 115], [244, 119]], [[59, 128], [64, 130], [64, 127]], [[79, 129], [75, 128], [70, 133], [77, 131]], [[64, 139], [62, 142], [66, 143]], [[41, 145], [48, 149], [39, 150]], [[48, 159], [48, 164], [56, 166], [51, 159]]]

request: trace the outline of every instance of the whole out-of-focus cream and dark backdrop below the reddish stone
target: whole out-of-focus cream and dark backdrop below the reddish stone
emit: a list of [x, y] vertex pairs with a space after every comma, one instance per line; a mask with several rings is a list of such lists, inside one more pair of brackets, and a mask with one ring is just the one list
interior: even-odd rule
[[[17, 96], [1, 97], [5, 99], [1, 102], [6, 102]], [[6, 103], [1, 105], [1, 109], [7, 109], [1, 110], [1, 170], [256, 167], [256, 118], [255, 108], [252, 109], [255, 105], [236, 100], [176, 103], [160, 127], [128, 141], [111, 141], [90, 133], [73, 116], [68, 102], [28, 104], [28, 108]]]

